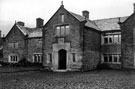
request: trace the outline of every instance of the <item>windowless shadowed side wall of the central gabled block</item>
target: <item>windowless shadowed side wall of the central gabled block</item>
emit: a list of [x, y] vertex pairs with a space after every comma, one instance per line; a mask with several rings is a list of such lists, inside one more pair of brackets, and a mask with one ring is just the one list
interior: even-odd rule
[[92, 70], [100, 63], [101, 34], [95, 29], [86, 28], [84, 31], [83, 69]]

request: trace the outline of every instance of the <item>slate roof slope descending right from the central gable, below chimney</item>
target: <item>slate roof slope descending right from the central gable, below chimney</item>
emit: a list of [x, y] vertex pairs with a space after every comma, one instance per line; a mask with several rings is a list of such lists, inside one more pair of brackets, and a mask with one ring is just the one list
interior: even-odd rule
[[[78, 19], [79, 21], [84, 21], [84, 20], [86, 20], [85, 17], [83, 17], [83, 16], [81, 16], [81, 15], [75, 14], [75, 13], [70, 12], [70, 11], [69, 11], [69, 13], [70, 13], [71, 15], [73, 15], [76, 19]], [[87, 20], [85, 26], [90, 27], [90, 28], [94, 28], [94, 29], [96, 29], [96, 30], [100, 30], [100, 29], [97, 27], [97, 25], [95, 24], [95, 22], [94, 22], [94, 21], [91, 21], [91, 20]]]

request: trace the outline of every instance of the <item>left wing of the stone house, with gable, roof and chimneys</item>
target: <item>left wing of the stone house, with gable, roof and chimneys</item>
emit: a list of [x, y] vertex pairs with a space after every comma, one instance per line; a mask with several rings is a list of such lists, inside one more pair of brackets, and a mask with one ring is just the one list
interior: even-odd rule
[[5, 62], [17, 63], [22, 59], [42, 63], [43, 20], [37, 18], [37, 27], [28, 28], [23, 22], [15, 22], [5, 37], [3, 58]]

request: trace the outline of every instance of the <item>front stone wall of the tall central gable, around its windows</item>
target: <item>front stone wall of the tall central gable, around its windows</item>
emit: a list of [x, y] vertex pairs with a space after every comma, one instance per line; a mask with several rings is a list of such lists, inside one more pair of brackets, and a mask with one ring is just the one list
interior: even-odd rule
[[[65, 20], [64, 23], [60, 21], [60, 15], [64, 14]], [[70, 33], [64, 37], [57, 37], [56, 36], [56, 29], [57, 25], [69, 24], [70, 26]], [[47, 53], [53, 52], [53, 44], [58, 45], [58, 39], [64, 38], [64, 42], [70, 44], [70, 49], [68, 53], [76, 52], [79, 58], [81, 58], [81, 45], [80, 45], [80, 22], [73, 17], [69, 12], [67, 12], [64, 8], [60, 8], [53, 17], [47, 22], [43, 29], [43, 59], [44, 59], [44, 66], [47, 65]], [[70, 58], [70, 57], [69, 57]], [[69, 59], [68, 59], [69, 60]], [[78, 61], [77, 61], [78, 62]], [[77, 63], [78, 64], [78, 63]], [[77, 65], [74, 63], [75, 66]], [[71, 68], [71, 67], [70, 67]]]

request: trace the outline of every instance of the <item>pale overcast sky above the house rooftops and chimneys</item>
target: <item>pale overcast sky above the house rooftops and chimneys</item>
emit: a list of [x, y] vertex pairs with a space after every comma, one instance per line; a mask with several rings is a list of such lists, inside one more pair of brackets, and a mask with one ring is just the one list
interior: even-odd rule
[[[26, 27], [35, 27], [36, 18], [44, 24], [60, 7], [62, 0], [0, 0], [0, 30], [6, 35], [15, 21], [23, 21]], [[63, 0], [64, 7], [82, 15], [89, 11], [90, 20], [130, 16], [134, 0]]]

